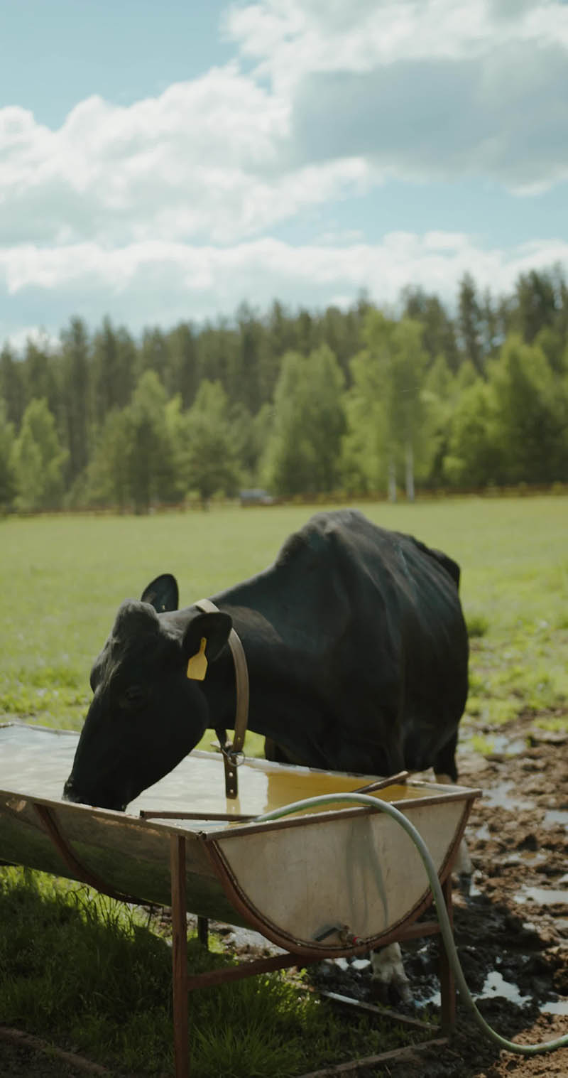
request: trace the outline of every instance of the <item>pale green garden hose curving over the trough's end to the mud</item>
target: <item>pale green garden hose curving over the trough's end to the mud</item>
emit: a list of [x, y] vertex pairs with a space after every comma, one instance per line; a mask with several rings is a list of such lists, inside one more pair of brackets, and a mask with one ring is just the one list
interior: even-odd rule
[[499, 1048], [504, 1048], [508, 1052], [515, 1052], [517, 1055], [537, 1055], [539, 1052], [552, 1052], [556, 1048], [565, 1048], [568, 1046], [568, 1034], [565, 1034], [564, 1037], [558, 1037], [556, 1040], [545, 1040], [539, 1045], [517, 1045], [514, 1040], [507, 1040], [505, 1037], [501, 1037], [495, 1032], [495, 1029], [491, 1029], [491, 1026], [485, 1021], [483, 1015], [477, 1010], [468, 985], [466, 984], [466, 978], [463, 977], [463, 970], [461, 969], [459, 963], [444, 896], [438, 879], [438, 872], [435, 870], [434, 862], [430, 857], [428, 846], [426, 845], [420, 833], [414, 827], [414, 824], [411, 824], [411, 821], [406, 819], [406, 816], [399, 812], [398, 808], [394, 808], [394, 806], [388, 801], [379, 801], [377, 798], [370, 797], [369, 793], [324, 793], [320, 797], [306, 798], [304, 801], [295, 801], [293, 804], [283, 805], [281, 808], [275, 808], [273, 812], [258, 816], [254, 823], [268, 823], [269, 820], [280, 819], [282, 816], [290, 816], [295, 812], [302, 812], [304, 808], [316, 808], [320, 805], [336, 804], [338, 802], [342, 804], [349, 802], [351, 804], [368, 805], [376, 812], [386, 813], [387, 816], [394, 819], [397, 824], [399, 824], [403, 830], [406, 831], [408, 838], [414, 842], [414, 845], [422, 859], [426, 874], [428, 876], [430, 887], [432, 888], [438, 920], [440, 922], [440, 930], [444, 940], [449, 964], [454, 970], [459, 994], [463, 1003], [467, 1007], [469, 1007], [475, 1022], [485, 1036], [495, 1041], [496, 1045], [499, 1045]]

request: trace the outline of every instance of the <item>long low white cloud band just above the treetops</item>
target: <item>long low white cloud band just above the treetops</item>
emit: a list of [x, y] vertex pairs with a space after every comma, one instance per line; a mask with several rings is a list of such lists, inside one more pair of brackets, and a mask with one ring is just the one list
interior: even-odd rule
[[[567, 241], [523, 244], [510, 250], [484, 250], [458, 233], [393, 232], [380, 244], [346, 243], [292, 246], [264, 238], [231, 248], [144, 241], [107, 251], [97, 244], [0, 252], [11, 304], [33, 296], [53, 312], [47, 330], [56, 333], [73, 310], [89, 322], [105, 314], [134, 331], [171, 326], [179, 319], [233, 312], [244, 300], [262, 308], [278, 296], [296, 306], [342, 304], [362, 288], [379, 304], [394, 303], [412, 282], [455, 300], [466, 271], [493, 294], [510, 291], [519, 273], [568, 265]], [[0, 299], [2, 295], [0, 285]], [[53, 301], [52, 301], [53, 296]], [[47, 301], [47, 302], [46, 302]], [[65, 301], [65, 306], [61, 303]], [[0, 326], [0, 337], [3, 328]]]

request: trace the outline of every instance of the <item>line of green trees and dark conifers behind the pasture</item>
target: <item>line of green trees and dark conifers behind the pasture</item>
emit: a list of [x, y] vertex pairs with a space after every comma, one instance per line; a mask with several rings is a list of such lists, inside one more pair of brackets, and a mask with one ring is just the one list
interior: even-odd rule
[[511, 294], [466, 274], [455, 313], [407, 288], [396, 308], [234, 318], [136, 340], [70, 319], [56, 346], [0, 353], [3, 511], [156, 503], [262, 486], [281, 497], [568, 478], [568, 288]]

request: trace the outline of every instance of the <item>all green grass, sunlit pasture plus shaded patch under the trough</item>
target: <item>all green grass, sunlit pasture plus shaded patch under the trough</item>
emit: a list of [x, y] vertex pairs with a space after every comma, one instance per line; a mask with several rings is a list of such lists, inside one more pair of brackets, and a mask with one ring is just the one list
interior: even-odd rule
[[[463, 734], [473, 747], [491, 751], [491, 734], [527, 710], [544, 729], [566, 729], [568, 499], [362, 508], [461, 565], [471, 635]], [[0, 719], [79, 729], [91, 664], [123, 598], [165, 571], [177, 576], [182, 605], [212, 595], [268, 565], [309, 513], [294, 506], [0, 522]], [[261, 738], [249, 738], [247, 751], [260, 754]], [[2, 1021], [119, 1069], [170, 1073], [170, 955], [154, 928], [85, 888], [0, 869]], [[196, 944], [190, 956], [198, 968]], [[342, 1022], [277, 975], [196, 993], [191, 1008], [202, 1078], [278, 1078], [408, 1039], [391, 1025]]]

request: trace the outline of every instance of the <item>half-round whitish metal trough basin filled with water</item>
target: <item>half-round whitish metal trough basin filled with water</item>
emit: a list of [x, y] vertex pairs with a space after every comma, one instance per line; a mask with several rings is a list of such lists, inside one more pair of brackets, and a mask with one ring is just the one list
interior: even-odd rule
[[263, 824], [238, 817], [364, 789], [412, 820], [443, 882], [480, 792], [416, 779], [368, 789], [380, 779], [246, 759], [239, 798], [228, 801], [221, 757], [194, 751], [119, 813], [61, 800], [78, 737], [0, 727], [1, 860], [169, 904], [170, 838], [183, 835], [189, 911], [251, 925], [306, 957], [352, 954], [398, 937], [431, 900], [419, 855], [394, 820], [365, 807], [334, 805]]

